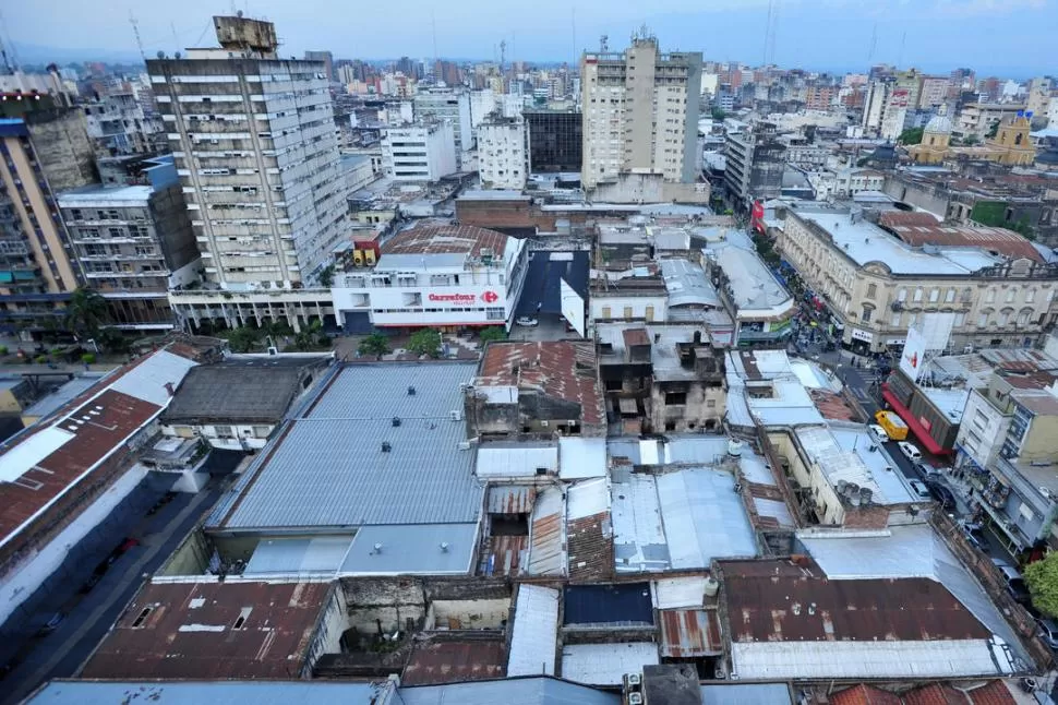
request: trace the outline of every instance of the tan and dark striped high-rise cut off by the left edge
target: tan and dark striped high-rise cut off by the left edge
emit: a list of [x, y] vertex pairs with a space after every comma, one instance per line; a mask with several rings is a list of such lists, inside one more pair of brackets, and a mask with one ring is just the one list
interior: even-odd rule
[[[28, 336], [63, 315], [83, 284], [56, 193], [97, 181], [80, 111], [61, 96], [0, 103], [0, 326]], [[50, 322], [50, 323], [49, 323]]]

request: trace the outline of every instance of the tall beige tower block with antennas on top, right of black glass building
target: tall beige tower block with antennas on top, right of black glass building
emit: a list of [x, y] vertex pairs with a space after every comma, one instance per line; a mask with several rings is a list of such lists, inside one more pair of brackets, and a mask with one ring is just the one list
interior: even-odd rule
[[580, 63], [585, 188], [623, 172], [695, 181], [701, 53], [661, 53], [645, 34], [623, 53], [585, 53]]

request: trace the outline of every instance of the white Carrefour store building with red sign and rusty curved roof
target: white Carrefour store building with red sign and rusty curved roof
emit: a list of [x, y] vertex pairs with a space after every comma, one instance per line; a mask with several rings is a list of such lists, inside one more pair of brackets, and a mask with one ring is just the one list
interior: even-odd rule
[[525, 285], [525, 240], [468, 225], [422, 224], [382, 244], [373, 266], [349, 267], [332, 289], [347, 330], [502, 325]]

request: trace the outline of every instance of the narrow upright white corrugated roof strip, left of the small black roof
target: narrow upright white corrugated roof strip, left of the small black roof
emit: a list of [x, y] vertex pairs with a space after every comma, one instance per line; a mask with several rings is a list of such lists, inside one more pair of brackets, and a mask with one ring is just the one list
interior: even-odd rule
[[558, 590], [520, 585], [515, 602], [507, 676], [553, 676], [558, 634]]

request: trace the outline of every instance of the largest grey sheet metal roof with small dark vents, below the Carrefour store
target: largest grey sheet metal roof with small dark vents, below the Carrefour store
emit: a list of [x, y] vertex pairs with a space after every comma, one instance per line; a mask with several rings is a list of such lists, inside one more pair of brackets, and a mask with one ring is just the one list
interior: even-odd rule
[[473, 452], [459, 449], [466, 426], [450, 417], [462, 407], [459, 384], [473, 371], [472, 362], [342, 367], [276, 434], [207, 526], [477, 522], [483, 488], [473, 478]]

